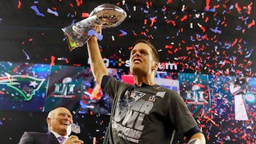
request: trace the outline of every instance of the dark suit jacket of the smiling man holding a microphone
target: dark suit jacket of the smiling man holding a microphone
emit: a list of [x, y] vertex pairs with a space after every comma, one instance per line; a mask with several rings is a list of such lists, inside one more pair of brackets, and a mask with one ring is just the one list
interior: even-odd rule
[[18, 144], [60, 144], [55, 135], [47, 133], [24, 132]]

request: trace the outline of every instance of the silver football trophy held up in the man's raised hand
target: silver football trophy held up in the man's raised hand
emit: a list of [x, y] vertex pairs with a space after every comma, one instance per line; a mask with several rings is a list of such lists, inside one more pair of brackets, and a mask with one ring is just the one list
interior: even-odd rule
[[61, 30], [67, 38], [70, 51], [72, 51], [85, 45], [92, 35], [96, 35], [99, 40], [102, 39], [102, 35], [95, 33], [96, 24], [102, 28], [112, 28], [122, 23], [126, 17], [127, 13], [120, 7], [113, 4], [102, 4], [93, 9], [89, 17], [61, 28]]

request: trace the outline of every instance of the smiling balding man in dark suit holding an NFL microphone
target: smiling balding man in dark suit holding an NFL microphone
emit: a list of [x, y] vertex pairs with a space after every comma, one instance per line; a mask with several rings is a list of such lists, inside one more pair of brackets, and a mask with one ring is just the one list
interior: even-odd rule
[[24, 132], [19, 144], [82, 144], [83, 141], [75, 135], [68, 136], [68, 126], [73, 123], [73, 116], [64, 107], [58, 107], [48, 113], [47, 133]]

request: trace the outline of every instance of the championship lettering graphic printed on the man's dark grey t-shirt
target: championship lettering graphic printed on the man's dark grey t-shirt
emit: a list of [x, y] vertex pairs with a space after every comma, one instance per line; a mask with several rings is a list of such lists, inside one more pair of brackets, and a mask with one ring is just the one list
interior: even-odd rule
[[142, 92], [125, 92], [118, 100], [112, 119], [112, 128], [117, 131], [117, 135], [133, 143], [139, 143], [144, 130], [144, 116], [148, 115], [154, 106], [152, 101], [140, 99], [145, 95]]

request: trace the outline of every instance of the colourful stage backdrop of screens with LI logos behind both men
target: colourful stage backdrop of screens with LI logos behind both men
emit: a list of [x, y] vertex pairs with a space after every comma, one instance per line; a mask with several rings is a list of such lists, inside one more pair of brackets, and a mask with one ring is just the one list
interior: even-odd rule
[[[3, 143], [16, 143], [23, 131], [46, 132], [47, 113], [58, 106], [72, 111], [75, 123], [82, 128], [82, 140], [90, 142], [95, 137], [102, 143], [112, 99], [95, 83], [90, 67], [17, 62], [0, 65], [4, 67], [0, 73]], [[134, 84], [129, 71], [108, 68], [108, 72], [119, 81]], [[181, 95], [208, 143], [254, 140], [255, 77], [159, 71], [155, 81]], [[181, 133], [177, 133], [177, 141], [183, 142]]]

